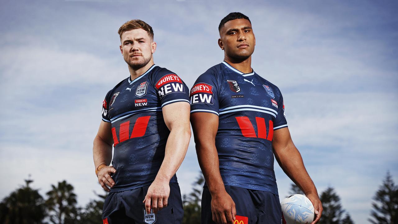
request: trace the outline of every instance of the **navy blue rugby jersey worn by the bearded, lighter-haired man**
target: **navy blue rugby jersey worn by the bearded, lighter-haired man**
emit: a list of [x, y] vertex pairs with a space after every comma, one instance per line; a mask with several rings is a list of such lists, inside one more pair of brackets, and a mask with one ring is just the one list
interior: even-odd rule
[[[115, 187], [111, 192], [150, 185], [164, 159], [170, 130], [162, 107], [189, 102], [189, 88], [175, 73], [153, 65], [137, 79], [130, 77], [103, 100], [102, 120], [111, 122]], [[174, 175], [171, 183], [178, 183]]]

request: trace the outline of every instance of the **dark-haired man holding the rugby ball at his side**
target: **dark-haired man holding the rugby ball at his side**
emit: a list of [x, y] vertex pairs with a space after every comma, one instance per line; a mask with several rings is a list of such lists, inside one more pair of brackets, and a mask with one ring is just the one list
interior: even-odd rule
[[256, 38], [249, 18], [230, 13], [219, 33], [224, 61], [203, 73], [190, 92], [191, 124], [206, 180], [202, 223], [280, 224], [274, 155], [311, 200], [312, 224], [318, 222], [322, 204], [291, 140], [281, 91], [251, 67]]

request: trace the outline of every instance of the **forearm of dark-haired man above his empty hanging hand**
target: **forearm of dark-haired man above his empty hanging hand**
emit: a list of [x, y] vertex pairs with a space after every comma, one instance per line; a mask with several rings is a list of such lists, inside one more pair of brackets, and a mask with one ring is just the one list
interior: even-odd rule
[[209, 187], [210, 194], [214, 195], [225, 191], [225, 186], [220, 175], [219, 156], [214, 141], [212, 143], [205, 142], [196, 143], [196, 153], [207, 187]]

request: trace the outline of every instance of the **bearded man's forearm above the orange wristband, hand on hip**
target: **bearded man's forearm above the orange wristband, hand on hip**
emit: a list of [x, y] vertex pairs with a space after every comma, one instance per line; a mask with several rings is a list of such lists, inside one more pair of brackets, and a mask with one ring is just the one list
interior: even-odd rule
[[106, 141], [102, 140], [99, 136], [94, 138], [93, 145], [93, 158], [95, 167], [98, 167], [103, 163], [109, 165], [112, 161], [112, 145], [106, 143]]

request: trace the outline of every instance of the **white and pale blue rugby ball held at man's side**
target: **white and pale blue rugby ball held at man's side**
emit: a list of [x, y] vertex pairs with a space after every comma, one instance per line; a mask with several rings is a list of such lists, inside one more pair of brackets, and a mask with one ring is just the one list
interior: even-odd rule
[[310, 224], [314, 221], [314, 206], [304, 195], [291, 195], [281, 202], [286, 224]]

